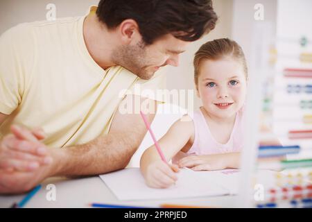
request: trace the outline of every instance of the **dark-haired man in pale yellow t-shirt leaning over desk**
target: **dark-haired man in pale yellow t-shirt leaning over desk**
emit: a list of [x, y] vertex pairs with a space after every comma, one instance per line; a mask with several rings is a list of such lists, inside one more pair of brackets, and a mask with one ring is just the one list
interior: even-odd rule
[[135, 84], [160, 87], [155, 71], [177, 66], [187, 44], [216, 20], [210, 0], [102, 0], [86, 17], [4, 33], [0, 193], [28, 191], [50, 176], [123, 169], [146, 128], [139, 114], [119, 107], [137, 98], [157, 104], [129, 92]]

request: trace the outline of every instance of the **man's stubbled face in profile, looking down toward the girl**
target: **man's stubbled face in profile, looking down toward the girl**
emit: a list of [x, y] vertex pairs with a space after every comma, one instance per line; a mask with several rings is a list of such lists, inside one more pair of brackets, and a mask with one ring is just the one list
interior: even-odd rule
[[137, 74], [139, 78], [150, 79], [160, 67], [165, 65], [177, 67], [179, 54], [185, 51], [188, 44], [189, 42], [167, 34], [147, 46], [143, 41], [120, 46], [112, 53], [112, 60]]

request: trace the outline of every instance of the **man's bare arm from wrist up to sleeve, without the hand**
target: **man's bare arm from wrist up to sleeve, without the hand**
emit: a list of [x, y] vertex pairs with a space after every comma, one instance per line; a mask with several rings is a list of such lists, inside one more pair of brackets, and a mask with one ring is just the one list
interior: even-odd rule
[[[126, 96], [121, 105], [132, 103], [135, 97]], [[139, 96], [137, 99], [140, 99]], [[156, 110], [157, 102], [153, 101], [153, 105]], [[155, 114], [146, 114], [146, 116], [151, 122]], [[57, 158], [53, 164], [55, 169], [52, 174], [83, 176], [123, 169], [141, 144], [146, 132], [146, 126], [139, 113], [121, 114], [118, 109], [107, 135], [97, 137], [87, 144], [62, 148], [61, 152], [56, 152]]]

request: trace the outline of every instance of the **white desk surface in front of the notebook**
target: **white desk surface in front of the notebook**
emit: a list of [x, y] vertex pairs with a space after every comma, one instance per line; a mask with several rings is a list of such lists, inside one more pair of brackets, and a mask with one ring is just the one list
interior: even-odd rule
[[[56, 200], [46, 200], [50, 183], [56, 187]], [[10, 207], [19, 202], [24, 195], [1, 195], [0, 207]], [[109, 203], [119, 205], [135, 205], [141, 207], [159, 207], [161, 203], [196, 206], [235, 207], [237, 196], [214, 196], [202, 198], [176, 198], [168, 200], [121, 201], [107, 188], [98, 176], [88, 178], [49, 178], [42, 182], [42, 189], [26, 203], [25, 207], [89, 207], [88, 203]]]

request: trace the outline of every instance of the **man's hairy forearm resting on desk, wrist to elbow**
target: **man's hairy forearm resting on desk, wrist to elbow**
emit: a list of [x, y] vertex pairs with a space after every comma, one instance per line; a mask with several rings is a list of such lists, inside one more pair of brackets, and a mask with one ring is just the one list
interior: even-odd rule
[[55, 152], [53, 176], [96, 175], [123, 169], [140, 142], [123, 135], [105, 135]]

